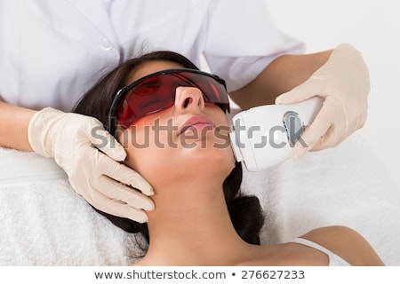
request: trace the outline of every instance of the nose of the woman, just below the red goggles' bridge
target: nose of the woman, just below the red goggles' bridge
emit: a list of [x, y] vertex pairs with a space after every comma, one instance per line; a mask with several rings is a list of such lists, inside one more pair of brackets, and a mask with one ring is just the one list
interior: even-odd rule
[[194, 87], [178, 87], [175, 91], [175, 109], [198, 112], [204, 109], [203, 93]]

